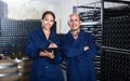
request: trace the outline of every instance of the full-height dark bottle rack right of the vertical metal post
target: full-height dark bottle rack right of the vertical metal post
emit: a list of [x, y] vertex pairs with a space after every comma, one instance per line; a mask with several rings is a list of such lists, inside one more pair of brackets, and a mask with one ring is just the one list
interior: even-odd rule
[[130, 1], [103, 4], [101, 81], [130, 81]]

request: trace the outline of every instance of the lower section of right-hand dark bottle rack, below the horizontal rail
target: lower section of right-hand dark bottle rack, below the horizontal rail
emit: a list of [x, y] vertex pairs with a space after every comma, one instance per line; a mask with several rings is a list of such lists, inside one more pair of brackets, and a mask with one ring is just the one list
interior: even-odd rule
[[103, 50], [101, 81], [130, 81], [130, 52]]

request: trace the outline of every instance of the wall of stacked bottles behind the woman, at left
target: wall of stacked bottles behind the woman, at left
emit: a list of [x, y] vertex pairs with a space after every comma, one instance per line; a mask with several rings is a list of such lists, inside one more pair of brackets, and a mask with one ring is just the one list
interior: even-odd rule
[[10, 55], [21, 51], [25, 54], [28, 35], [41, 27], [40, 19], [0, 19], [0, 53]]

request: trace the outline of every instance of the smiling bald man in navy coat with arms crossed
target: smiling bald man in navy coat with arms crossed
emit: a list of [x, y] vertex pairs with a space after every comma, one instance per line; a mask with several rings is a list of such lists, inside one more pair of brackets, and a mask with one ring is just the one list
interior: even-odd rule
[[80, 17], [69, 15], [70, 30], [63, 38], [67, 81], [96, 81], [93, 58], [98, 54], [93, 37], [80, 29]]

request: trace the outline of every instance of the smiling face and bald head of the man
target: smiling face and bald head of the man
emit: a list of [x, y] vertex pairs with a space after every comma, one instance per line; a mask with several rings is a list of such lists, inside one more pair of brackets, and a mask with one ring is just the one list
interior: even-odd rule
[[80, 19], [78, 14], [72, 14], [69, 16], [68, 25], [70, 27], [70, 30], [78, 30], [80, 27]]

